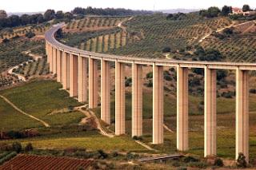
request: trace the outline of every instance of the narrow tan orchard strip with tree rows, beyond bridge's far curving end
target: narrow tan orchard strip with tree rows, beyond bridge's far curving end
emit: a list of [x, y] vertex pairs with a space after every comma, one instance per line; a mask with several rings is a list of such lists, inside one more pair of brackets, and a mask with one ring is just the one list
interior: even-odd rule
[[88, 17], [74, 22], [69, 22], [66, 30], [86, 30], [90, 28], [107, 28], [118, 26], [126, 18], [121, 17]]

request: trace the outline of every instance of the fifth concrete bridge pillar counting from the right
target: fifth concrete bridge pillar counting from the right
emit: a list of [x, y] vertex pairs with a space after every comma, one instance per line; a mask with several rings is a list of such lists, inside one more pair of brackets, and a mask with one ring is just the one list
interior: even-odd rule
[[142, 65], [132, 68], [132, 136], [142, 136]]

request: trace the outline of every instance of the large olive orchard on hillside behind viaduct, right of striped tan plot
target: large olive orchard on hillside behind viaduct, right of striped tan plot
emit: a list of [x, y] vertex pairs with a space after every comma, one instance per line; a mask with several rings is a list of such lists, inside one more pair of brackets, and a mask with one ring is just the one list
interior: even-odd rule
[[204, 19], [193, 16], [184, 20], [168, 21], [162, 14], [138, 16], [125, 24], [128, 33], [142, 33], [142, 41], [126, 45], [126, 48], [114, 50], [113, 53], [161, 57], [165, 47], [170, 47], [171, 51], [186, 49], [187, 46], [197, 45], [206, 34], [230, 26], [231, 23], [229, 18]]

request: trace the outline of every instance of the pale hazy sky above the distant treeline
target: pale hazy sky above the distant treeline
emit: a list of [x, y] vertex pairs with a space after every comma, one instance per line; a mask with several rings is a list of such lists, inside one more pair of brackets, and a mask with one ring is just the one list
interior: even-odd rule
[[256, 0], [1, 0], [0, 9], [7, 12], [35, 12], [54, 10], [73, 10], [76, 6], [122, 7], [133, 10], [167, 10], [175, 8], [202, 9], [209, 6], [256, 7]]

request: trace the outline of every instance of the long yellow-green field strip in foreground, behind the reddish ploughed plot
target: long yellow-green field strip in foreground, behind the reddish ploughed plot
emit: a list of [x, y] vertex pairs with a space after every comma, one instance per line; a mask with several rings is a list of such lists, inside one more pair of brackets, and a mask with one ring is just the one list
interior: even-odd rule
[[[146, 148], [135, 143], [127, 136], [116, 136], [109, 138], [96, 132], [84, 133], [83, 136], [51, 136], [38, 137], [29, 140], [18, 140], [22, 144], [32, 143], [35, 148], [66, 149], [66, 148], [86, 148], [87, 150], [103, 149], [105, 151], [118, 152], [145, 152]], [[13, 140], [9, 140], [13, 142]]]

